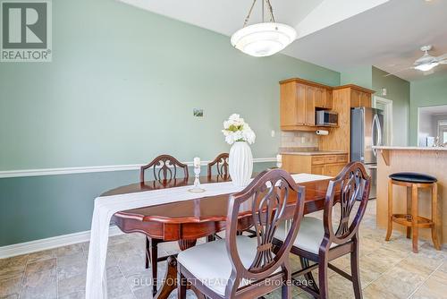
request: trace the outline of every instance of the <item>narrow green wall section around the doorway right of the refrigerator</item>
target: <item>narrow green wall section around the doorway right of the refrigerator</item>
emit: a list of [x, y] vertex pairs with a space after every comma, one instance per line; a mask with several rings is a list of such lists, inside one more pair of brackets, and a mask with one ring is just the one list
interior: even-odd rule
[[[384, 77], [387, 73], [372, 68], [372, 89], [377, 96], [392, 100], [392, 145], [409, 144], [409, 81], [396, 76]], [[380, 95], [385, 88], [386, 96]]]

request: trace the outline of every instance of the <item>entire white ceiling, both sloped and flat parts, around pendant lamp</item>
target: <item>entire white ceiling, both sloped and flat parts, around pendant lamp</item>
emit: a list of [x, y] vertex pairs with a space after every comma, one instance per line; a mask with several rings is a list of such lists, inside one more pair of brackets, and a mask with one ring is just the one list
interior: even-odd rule
[[[239, 30], [252, 0], [120, 0], [153, 13], [231, 36]], [[394, 73], [434, 45], [434, 56], [447, 53], [447, 0], [271, 0], [276, 21], [298, 30], [299, 38], [283, 53], [343, 72], [375, 65]], [[260, 21], [260, 5], [251, 22]], [[229, 41], [230, 42], [230, 41]], [[262, 58], [260, 58], [262, 59]], [[447, 73], [438, 66], [435, 76]], [[425, 78], [414, 70], [398, 73]]]

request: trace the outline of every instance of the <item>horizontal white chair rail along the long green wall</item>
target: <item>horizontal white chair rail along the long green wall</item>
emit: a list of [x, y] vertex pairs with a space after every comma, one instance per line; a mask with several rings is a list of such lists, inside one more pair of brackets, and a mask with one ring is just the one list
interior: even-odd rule
[[[202, 161], [202, 166], [207, 166], [211, 161]], [[276, 162], [276, 158], [254, 158], [255, 163]], [[193, 162], [181, 162], [192, 166]], [[23, 170], [4, 170], [0, 171], [0, 178], [6, 177], [22, 177], [22, 176], [40, 176], [40, 175], [72, 175], [72, 174], [88, 174], [88, 173], [102, 173], [110, 171], [123, 170], [139, 170], [143, 164], [131, 165], [112, 165], [102, 167], [64, 167], [64, 168], [40, 168], [40, 169], [23, 169]]]

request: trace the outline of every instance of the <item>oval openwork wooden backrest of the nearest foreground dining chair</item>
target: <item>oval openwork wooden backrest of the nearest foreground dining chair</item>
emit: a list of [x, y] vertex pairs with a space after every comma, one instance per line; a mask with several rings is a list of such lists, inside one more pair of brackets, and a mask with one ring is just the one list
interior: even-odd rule
[[[260, 281], [280, 268], [290, 271], [289, 252], [298, 234], [304, 198], [304, 187], [298, 186], [291, 175], [281, 169], [257, 175], [242, 192], [230, 197], [225, 242], [232, 261], [232, 276], [225, 289], [225, 298], [234, 297], [242, 280]], [[241, 228], [238, 218], [241, 217], [248, 219], [257, 238], [257, 252], [249, 268], [242, 264], [236, 244]], [[274, 254], [274, 233], [284, 220], [292, 220], [291, 226]]]

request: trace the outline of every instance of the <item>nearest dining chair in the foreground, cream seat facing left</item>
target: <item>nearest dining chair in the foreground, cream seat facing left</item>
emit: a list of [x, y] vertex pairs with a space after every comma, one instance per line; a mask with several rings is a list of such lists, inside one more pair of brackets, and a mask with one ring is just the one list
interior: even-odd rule
[[[186, 298], [188, 285], [212, 299], [252, 299], [279, 287], [283, 298], [291, 298], [289, 253], [303, 215], [304, 193], [291, 175], [275, 169], [230, 195], [225, 239], [199, 244], [177, 257], [179, 299]], [[245, 219], [246, 228], [257, 232], [255, 238], [238, 234]], [[292, 220], [290, 229], [274, 253], [274, 233], [286, 219]]]

